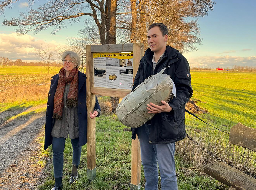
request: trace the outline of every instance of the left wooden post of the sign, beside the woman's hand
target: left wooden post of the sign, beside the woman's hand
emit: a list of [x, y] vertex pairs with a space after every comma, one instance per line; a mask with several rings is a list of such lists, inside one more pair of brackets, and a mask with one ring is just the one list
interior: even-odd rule
[[87, 105], [87, 178], [93, 180], [96, 177], [96, 121], [90, 118], [95, 106], [95, 95], [92, 94], [93, 85], [93, 54], [91, 46], [86, 46], [86, 105]]

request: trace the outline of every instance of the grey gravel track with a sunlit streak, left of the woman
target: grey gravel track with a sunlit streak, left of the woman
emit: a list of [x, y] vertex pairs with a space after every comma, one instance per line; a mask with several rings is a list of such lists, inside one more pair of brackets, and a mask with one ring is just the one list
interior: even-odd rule
[[[40, 107], [28, 108], [23, 111], [33, 111]], [[0, 176], [8, 167], [20, 160], [24, 151], [31, 148], [31, 142], [35, 140], [45, 123], [45, 113], [3, 122], [4, 118], [21, 112], [22, 110], [15, 110], [0, 113]]]

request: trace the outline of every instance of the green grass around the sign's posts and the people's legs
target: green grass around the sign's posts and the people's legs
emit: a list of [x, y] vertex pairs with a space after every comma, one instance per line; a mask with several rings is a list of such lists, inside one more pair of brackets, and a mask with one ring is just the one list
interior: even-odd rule
[[[68, 180], [72, 169], [72, 145], [70, 139], [66, 139], [64, 150], [63, 184], [65, 189], [129, 189], [131, 179], [131, 132], [124, 131], [127, 128], [121, 124], [116, 115], [102, 115], [96, 118], [96, 165], [97, 178], [89, 181], [86, 178], [87, 155], [86, 145], [82, 147], [81, 163], [79, 165], [80, 178], [77, 183], [69, 186]], [[51, 154], [51, 147], [49, 154]], [[197, 172], [187, 175], [182, 169], [182, 161], [175, 156], [176, 172], [179, 189], [225, 189], [224, 185], [207, 176], [201, 176]], [[52, 164], [51, 166], [52, 167]], [[53, 170], [47, 171], [47, 179], [39, 189], [49, 189], [54, 185]], [[141, 167], [142, 190], [144, 189], [144, 173]], [[160, 181], [160, 179], [159, 179]]]

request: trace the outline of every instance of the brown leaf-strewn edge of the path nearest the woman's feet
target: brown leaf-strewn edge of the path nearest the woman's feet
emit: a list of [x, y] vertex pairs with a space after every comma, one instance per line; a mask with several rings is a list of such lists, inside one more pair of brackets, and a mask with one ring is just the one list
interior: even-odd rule
[[[36, 190], [45, 178], [45, 168], [49, 167], [49, 157], [42, 155], [39, 137], [44, 135], [41, 128], [37, 137], [23, 150], [12, 165], [0, 175], [0, 189]], [[43, 165], [42, 165], [43, 163]], [[47, 170], [47, 169], [46, 169]]]

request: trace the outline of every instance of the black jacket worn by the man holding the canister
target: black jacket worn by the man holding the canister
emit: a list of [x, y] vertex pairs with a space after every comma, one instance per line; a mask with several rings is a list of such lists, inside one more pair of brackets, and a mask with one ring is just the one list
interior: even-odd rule
[[[171, 112], [156, 114], [148, 123], [151, 124], [148, 142], [150, 144], [165, 144], [182, 140], [186, 137], [185, 104], [192, 96], [191, 75], [188, 61], [178, 50], [166, 46], [165, 55], [156, 65], [153, 73], [154, 52], [147, 49], [140, 60], [138, 72], [134, 79], [133, 89], [141, 84], [150, 75], [159, 73], [163, 68], [170, 66], [164, 73], [171, 76], [176, 86], [176, 96], [169, 102], [173, 108]], [[138, 129], [132, 128], [132, 139], [136, 138]]]

